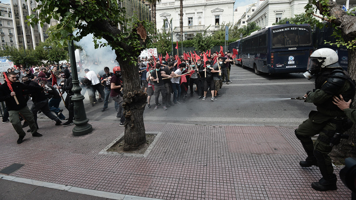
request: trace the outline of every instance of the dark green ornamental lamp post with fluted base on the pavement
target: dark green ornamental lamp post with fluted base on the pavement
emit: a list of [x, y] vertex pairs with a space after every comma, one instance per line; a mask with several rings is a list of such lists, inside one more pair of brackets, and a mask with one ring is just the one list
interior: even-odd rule
[[[73, 34], [68, 34], [71, 38]], [[72, 83], [73, 88], [72, 91], [74, 95], [72, 96], [72, 101], [74, 102], [74, 121], [75, 127], [73, 128], [73, 136], [81, 136], [86, 135], [93, 131], [93, 127], [89, 124], [89, 119], [87, 118], [87, 114], [85, 113], [84, 108], [84, 96], [80, 94], [82, 88], [79, 86], [78, 80], [78, 72], [77, 72], [77, 63], [75, 62], [75, 54], [74, 54], [74, 42], [73, 40], [68, 41], [68, 49], [69, 49], [69, 59], [70, 66], [72, 69]]]

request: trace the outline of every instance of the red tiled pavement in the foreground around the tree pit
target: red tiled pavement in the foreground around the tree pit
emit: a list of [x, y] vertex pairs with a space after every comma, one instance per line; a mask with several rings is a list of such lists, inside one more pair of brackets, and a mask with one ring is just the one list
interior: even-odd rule
[[39, 121], [43, 137], [27, 134], [19, 145], [11, 124], [3, 124], [0, 169], [21, 163], [25, 166], [10, 175], [169, 200], [351, 198], [340, 180], [336, 191], [310, 187], [319, 170], [299, 166], [305, 153], [290, 128], [146, 124], [146, 131], [163, 133], [140, 158], [99, 154], [124, 128], [90, 123], [92, 133], [74, 137], [73, 126]]

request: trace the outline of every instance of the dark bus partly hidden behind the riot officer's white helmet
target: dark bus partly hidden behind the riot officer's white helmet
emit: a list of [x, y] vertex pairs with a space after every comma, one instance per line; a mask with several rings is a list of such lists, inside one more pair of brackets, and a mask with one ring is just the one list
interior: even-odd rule
[[334, 28], [330, 25], [330, 23], [323, 22], [323, 28], [318, 28], [317, 26], [314, 27], [313, 31], [313, 43], [315, 50], [320, 48], [330, 48], [333, 49], [337, 55], [339, 56], [339, 64], [342, 68], [347, 71], [347, 64], [349, 61], [349, 54], [347, 52], [346, 46], [339, 46], [337, 47], [336, 44], [330, 45], [329, 43], [325, 44], [326, 42], [335, 43], [337, 38], [333, 35]]

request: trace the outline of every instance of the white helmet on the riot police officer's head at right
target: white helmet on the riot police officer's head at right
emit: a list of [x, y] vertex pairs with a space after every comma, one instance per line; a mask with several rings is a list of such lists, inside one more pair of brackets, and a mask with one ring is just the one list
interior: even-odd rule
[[309, 56], [307, 70], [340, 67], [338, 61], [339, 56], [333, 49], [317, 49]]

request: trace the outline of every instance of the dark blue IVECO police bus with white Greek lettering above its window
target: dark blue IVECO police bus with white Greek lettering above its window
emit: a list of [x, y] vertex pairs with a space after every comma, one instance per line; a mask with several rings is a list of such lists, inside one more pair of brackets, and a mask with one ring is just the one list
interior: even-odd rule
[[255, 74], [298, 73], [307, 71], [313, 52], [310, 25], [284, 24], [265, 27], [239, 41], [242, 67]]

